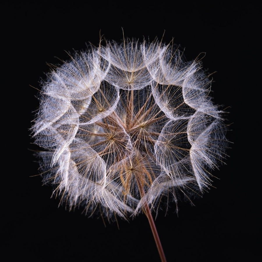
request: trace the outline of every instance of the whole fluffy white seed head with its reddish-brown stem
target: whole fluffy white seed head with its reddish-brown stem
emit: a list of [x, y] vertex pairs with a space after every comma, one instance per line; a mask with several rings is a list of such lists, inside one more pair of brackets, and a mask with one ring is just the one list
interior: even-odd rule
[[200, 59], [185, 61], [172, 41], [75, 51], [41, 82], [31, 131], [45, 149], [43, 182], [69, 210], [109, 219], [144, 212], [166, 261], [152, 210], [163, 196], [177, 203], [208, 190], [225, 157], [226, 126], [210, 82]]

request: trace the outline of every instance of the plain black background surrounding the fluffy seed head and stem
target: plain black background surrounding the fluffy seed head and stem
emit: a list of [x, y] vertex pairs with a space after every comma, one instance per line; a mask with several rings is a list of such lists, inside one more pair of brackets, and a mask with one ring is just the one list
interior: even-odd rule
[[[228, 1], [229, 2], [229, 1]], [[213, 75], [215, 102], [227, 107], [233, 142], [226, 165], [213, 172], [216, 188], [195, 206], [170, 206], [155, 224], [168, 262], [257, 261], [259, 172], [251, 162], [257, 147], [256, 77], [261, 5], [213, 1], [176, 2], [9, 2], [2, 5], [3, 251], [8, 260], [160, 261], [145, 216], [107, 224], [58, 208], [42, 186], [29, 128], [40, 77], [48, 63], [67, 59], [65, 51], [111, 40], [156, 36], [185, 47], [188, 59], [205, 52], [203, 66]], [[123, 31], [122, 31], [123, 28]], [[101, 30], [101, 32], [100, 32]], [[164, 32], [165, 31], [165, 32]], [[260, 62], [260, 61], [259, 61]], [[259, 68], [259, 66], [258, 66]], [[253, 84], [254, 78], [257, 84]], [[251, 92], [254, 90], [254, 96]], [[4, 95], [6, 93], [6, 95]], [[252, 98], [251, 98], [252, 97]], [[254, 102], [254, 101], [253, 101]], [[259, 194], [258, 194], [259, 195]]]

